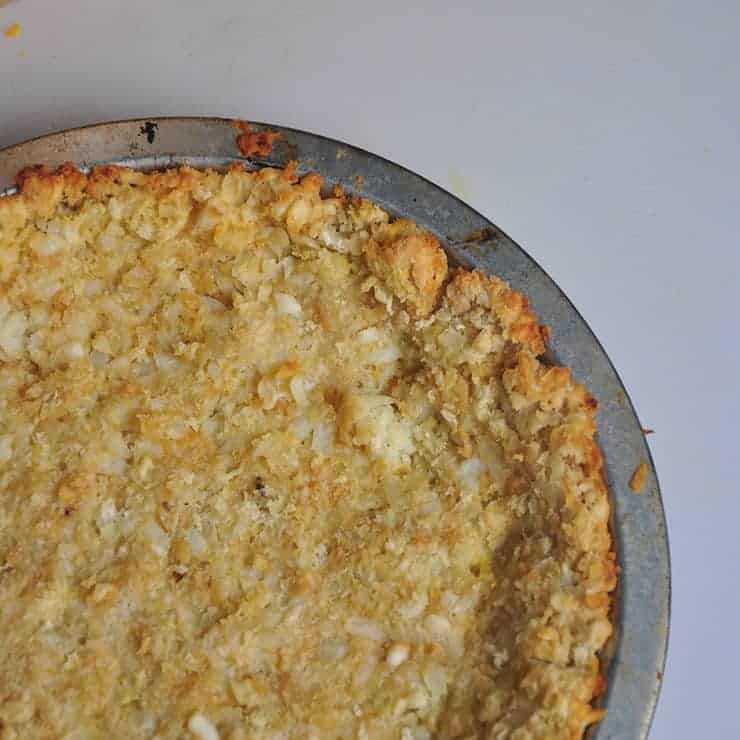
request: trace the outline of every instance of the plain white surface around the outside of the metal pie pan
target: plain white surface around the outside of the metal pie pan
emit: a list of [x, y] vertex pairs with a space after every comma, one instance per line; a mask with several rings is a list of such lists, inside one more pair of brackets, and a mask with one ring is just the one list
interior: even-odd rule
[[272, 121], [404, 164], [523, 244], [656, 430], [674, 601], [651, 738], [740, 737], [737, 0], [16, 0], [13, 21], [0, 147], [115, 118]]

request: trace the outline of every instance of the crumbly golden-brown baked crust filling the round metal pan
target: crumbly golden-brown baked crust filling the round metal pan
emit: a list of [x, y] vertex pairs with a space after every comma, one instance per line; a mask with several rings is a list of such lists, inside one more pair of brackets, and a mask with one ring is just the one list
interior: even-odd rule
[[505, 282], [294, 168], [0, 199], [0, 737], [580, 738], [596, 403]]

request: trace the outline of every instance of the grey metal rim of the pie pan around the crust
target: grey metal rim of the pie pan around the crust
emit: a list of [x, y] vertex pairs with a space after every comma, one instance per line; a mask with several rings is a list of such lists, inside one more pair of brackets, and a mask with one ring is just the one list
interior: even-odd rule
[[[116, 163], [152, 169], [190, 164], [284, 167], [317, 171], [331, 187], [373, 200], [429, 229], [448, 255], [466, 267], [494, 272], [524, 293], [551, 329], [549, 359], [571, 368], [599, 401], [598, 441], [612, 505], [611, 528], [620, 568], [614, 594], [615, 634], [603, 651], [608, 712], [591, 740], [644, 740], [662, 683], [668, 645], [671, 581], [665, 513], [657, 474], [634, 406], [599, 340], [563, 291], [513, 239], [456, 196], [383, 157], [284, 126], [254, 123], [280, 136], [267, 156], [244, 157], [229, 118], [140, 118], [47, 134], [0, 150], [0, 195], [13, 192], [17, 172], [33, 164], [79, 167]], [[629, 480], [641, 462], [645, 487]]]

